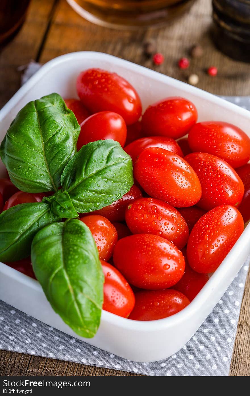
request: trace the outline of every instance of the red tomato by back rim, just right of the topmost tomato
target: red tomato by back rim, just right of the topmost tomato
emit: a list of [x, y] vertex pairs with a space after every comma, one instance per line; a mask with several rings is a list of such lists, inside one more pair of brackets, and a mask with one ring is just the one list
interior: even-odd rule
[[182, 97], [168, 97], [148, 106], [141, 124], [147, 136], [178, 139], [188, 133], [197, 121], [195, 105]]

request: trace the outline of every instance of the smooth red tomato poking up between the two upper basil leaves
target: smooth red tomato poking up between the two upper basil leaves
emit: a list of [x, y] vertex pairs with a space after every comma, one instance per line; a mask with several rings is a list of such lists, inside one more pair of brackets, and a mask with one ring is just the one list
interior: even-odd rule
[[92, 114], [81, 123], [81, 132], [77, 140], [77, 150], [96, 140], [113, 139], [124, 147], [127, 127], [124, 119], [113, 111], [101, 111]]

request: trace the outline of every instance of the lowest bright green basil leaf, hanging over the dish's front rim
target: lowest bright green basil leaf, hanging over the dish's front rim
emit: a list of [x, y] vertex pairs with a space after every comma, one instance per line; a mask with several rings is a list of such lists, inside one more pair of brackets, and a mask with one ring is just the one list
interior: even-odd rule
[[32, 242], [31, 260], [55, 312], [81, 337], [94, 337], [104, 276], [89, 228], [77, 219], [43, 228]]

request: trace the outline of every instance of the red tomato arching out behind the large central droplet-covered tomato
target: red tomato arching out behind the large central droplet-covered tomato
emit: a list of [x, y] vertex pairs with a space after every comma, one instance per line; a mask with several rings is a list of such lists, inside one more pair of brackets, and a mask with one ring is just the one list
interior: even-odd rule
[[142, 137], [141, 139], [135, 140], [124, 148], [124, 150], [130, 155], [132, 161], [135, 162], [138, 155], [149, 147], [161, 147], [165, 150], [171, 151], [178, 154], [180, 157], [183, 153], [176, 141], [171, 137], [163, 136], [152, 136], [152, 137]]

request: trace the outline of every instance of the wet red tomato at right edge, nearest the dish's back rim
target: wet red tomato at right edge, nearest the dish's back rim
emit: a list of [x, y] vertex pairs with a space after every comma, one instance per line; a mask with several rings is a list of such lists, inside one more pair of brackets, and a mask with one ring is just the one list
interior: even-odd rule
[[233, 168], [250, 159], [250, 139], [242, 129], [221, 121], [195, 124], [188, 133], [193, 152], [207, 152], [225, 160]]

